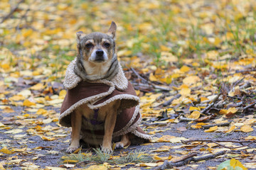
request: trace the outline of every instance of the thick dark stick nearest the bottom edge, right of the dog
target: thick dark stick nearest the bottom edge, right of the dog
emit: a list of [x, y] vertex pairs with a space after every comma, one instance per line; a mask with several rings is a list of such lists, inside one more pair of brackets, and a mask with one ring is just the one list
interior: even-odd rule
[[174, 163], [174, 162], [165, 161], [164, 164], [162, 164], [161, 166], [157, 166], [155, 168], [155, 170], [171, 169], [174, 166], [183, 166], [183, 165], [188, 164], [189, 162], [200, 162], [200, 161], [207, 160], [207, 159], [213, 159], [213, 158], [218, 157], [223, 154], [225, 154], [225, 151], [220, 151], [215, 154], [206, 154], [201, 157], [190, 157], [190, 158], [184, 160], [183, 162]]

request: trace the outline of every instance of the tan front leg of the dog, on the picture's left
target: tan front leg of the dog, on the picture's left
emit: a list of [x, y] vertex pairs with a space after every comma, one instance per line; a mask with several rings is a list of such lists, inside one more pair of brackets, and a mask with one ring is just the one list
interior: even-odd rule
[[72, 127], [72, 134], [71, 134], [71, 144], [68, 147], [68, 153], [73, 153], [76, 149], [78, 149], [79, 140], [80, 140], [80, 130], [82, 125], [82, 115], [79, 111], [74, 111], [71, 114], [71, 127]]

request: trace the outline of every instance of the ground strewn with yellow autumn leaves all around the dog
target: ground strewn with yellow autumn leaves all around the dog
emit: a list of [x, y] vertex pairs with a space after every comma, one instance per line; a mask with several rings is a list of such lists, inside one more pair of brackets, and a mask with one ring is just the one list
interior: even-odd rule
[[[255, 11], [247, 0], [1, 1], [0, 169], [254, 169]], [[111, 21], [153, 140], [66, 155], [58, 115], [75, 33]]]

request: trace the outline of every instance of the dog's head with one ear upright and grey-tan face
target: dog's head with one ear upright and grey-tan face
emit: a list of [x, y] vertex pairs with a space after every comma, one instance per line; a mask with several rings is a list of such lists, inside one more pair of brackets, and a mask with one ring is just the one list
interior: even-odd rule
[[110, 29], [105, 33], [90, 33], [85, 35], [82, 31], [76, 33], [78, 53], [82, 60], [92, 64], [109, 62], [115, 54], [115, 32], [117, 26], [111, 23]]

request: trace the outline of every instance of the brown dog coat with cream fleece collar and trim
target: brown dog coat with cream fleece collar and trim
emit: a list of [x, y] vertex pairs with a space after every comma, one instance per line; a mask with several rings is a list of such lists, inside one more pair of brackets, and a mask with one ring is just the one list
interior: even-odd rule
[[80, 135], [82, 140], [93, 145], [94, 141], [102, 141], [104, 137], [104, 123], [97, 121], [97, 111], [112, 101], [120, 100], [113, 137], [132, 133], [144, 140], [150, 140], [151, 137], [139, 127], [142, 122], [142, 116], [139, 113], [139, 97], [124, 76], [121, 65], [119, 64], [118, 74], [110, 81], [102, 79], [87, 82], [82, 81], [73, 71], [75, 60], [70, 62], [65, 74], [63, 84], [68, 91], [60, 108], [60, 125], [71, 127], [70, 113], [73, 113], [78, 106], [87, 105], [95, 113], [92, 120], [83, 118], [82, 121], [90, 122], [92, 126], [82, 127]]

